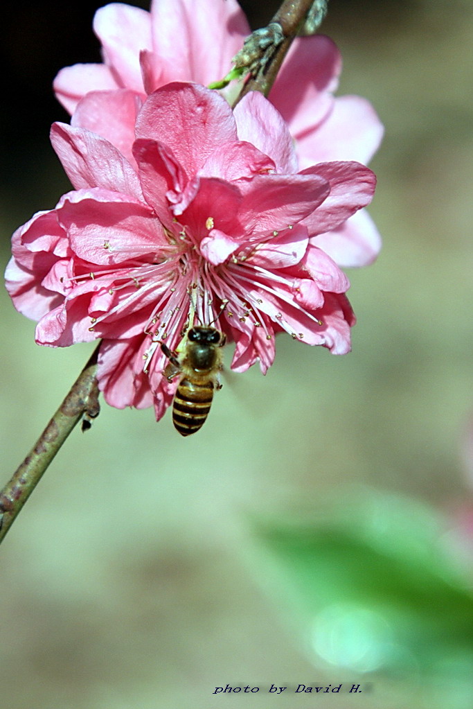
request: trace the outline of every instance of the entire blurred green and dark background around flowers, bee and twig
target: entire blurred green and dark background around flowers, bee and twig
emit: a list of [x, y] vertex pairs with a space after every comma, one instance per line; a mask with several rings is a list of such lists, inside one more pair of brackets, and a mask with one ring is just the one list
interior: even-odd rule
[[[51, 84], [99, 60], [100, 5], [2, 9], [4, 264], [69, 189]], [[276, 6], [243, 5], [253, 28]], [[281, 337], [188, 440], [106, 404], [72, 433], [0, 551], [10, 709], [473, 705], [473, 4], [331, 0], [322, 30], [386, 127], [353, 352]], [[38, 347], [0, 298], [6, 481], [92, 348]]]

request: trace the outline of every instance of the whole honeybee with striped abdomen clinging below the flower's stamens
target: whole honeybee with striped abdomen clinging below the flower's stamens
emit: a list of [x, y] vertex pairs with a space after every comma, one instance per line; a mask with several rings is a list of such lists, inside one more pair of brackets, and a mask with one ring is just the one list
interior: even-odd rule
[[197, 432], [210, 411], [214, 389], [221, 389], [218, 373], [222, 369], [221, 347], [226, 337], [210, 325], [195, 325], [187, 333], [182, 353], [171, 352], [161, 343], [169, 358], [164, 376], [172, 381], [181, 374], [173, 401], [174, 428], [182, 436]]

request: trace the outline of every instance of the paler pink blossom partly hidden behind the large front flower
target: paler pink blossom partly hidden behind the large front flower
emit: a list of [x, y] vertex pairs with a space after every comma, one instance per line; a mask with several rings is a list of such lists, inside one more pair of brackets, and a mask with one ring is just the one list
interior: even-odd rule
[[[150, 13], [114, 3], [96, 12], [93, 28], [103, 64], [62, 69], [55, 91], [75, 111], [73, 125], [102, 135], [127, 157], [145, 96], [168, 82], [222, 78], [251, 31], [236, 0], [152, 0]], [[329, 38], [298, 38], [270, 92], [295, 138], [301, 169], [332, 160], [365, 164], [380, 145], [382, 125], [369, 102], [334, 98], [340, 72], [341, 57]], [[230, 99], [238, 90], [230, 86], [225, 93]], [[319, 242], [343, 267], [372, 262], [381, 245], [365, 211]]]

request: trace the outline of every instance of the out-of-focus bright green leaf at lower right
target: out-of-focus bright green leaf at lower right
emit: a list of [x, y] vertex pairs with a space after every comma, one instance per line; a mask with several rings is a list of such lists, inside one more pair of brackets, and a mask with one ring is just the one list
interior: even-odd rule
[[471, 689], [471, 705], [473, 593], [431, 510], [367, 489], [253, 529], [266, 588], [302, 620], [314, 658], [448, 680]]

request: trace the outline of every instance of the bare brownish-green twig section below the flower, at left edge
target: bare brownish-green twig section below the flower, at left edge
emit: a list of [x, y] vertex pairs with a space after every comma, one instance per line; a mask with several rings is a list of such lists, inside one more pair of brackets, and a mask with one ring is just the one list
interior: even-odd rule
[[95, 375], [99, 347], [94, 350], [33, 449], [0, 492], [0, 542], [76, 423], [84, 417], [82, 429], [86, 430], [90, 427], [90, 419], [98, 415], [100, 406]]

